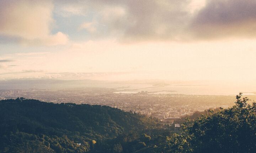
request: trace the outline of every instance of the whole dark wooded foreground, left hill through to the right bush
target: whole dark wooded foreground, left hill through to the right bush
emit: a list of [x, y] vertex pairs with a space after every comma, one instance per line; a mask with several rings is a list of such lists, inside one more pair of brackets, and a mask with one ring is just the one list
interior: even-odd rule
[[231, 108], [188, 117], [172, 131], [157, 119], [109, 106], [1, 100], [0, 153], [256, 152], [256, 102], [242, 93]]

